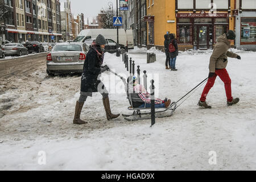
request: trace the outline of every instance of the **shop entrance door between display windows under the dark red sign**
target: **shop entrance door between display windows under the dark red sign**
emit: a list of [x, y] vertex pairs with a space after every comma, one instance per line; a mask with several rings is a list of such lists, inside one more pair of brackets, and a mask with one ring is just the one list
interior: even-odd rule
[[212, 49], [213, 44], [212, 25], [198, 24], [194, 26], [195, 49]]

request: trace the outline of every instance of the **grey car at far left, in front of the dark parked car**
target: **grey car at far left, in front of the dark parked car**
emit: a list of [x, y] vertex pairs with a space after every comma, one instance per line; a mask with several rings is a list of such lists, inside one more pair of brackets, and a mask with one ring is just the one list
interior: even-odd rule
[[28, 49], [20, 43], [5, 44], [5, 46], [2, 47], [2, 50], [5, 52], [5, 56], [28, 55]]

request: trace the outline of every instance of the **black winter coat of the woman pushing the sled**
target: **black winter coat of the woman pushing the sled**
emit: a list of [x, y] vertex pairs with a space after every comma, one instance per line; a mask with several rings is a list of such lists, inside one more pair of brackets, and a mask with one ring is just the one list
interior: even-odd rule
[[[100, 49], [99, 47], [97, 47]], [[86, 54], [84, 68], [81, 77], [81, 92], [98, 92], [98, 84], [101, 80], [97, 79], [101, 71], [101, 60], [95, 49], [90, 48]], [[102, 88], [104, 85], [102, 84]]]

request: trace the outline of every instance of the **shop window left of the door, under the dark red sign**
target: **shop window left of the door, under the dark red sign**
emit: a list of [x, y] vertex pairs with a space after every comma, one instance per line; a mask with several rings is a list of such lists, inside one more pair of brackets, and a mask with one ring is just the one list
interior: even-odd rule
[[177, 28], [178, 32], [178, 43], [191, 44], [191, 26], [190, 25], [179, 25]]

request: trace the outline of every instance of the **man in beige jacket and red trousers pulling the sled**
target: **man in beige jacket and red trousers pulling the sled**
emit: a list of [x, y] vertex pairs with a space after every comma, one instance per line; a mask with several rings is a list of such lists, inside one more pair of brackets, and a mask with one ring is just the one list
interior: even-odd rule
[[241, 59], [241, 57], [236, 53], [228, 51], [230, 43], [234, 42], [234, 39], [236, 39], [236, 34], [232, 30], [229, 30], [227, 33], [218, 37], [218, 41], [213, 49], [212, 56], [210, 56], [208, 82], [205, 85], [200, 101], [198, 102], [199, 106], [209, 109], [212, 108], [212, 106], [209, 106], [205, 100], [210, 88], [212, 88], [214, 85], [214, 81], [217, 76], [220, 77], [224, 82], [227, 105], [230, 106], [239, 102], [239, 98], [232, 97], [231, 80], [229, 73], [226, 71], [228, 57]]

